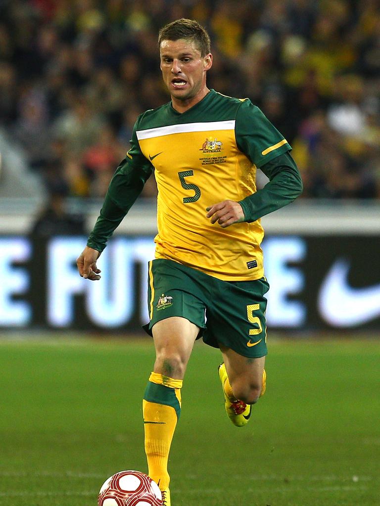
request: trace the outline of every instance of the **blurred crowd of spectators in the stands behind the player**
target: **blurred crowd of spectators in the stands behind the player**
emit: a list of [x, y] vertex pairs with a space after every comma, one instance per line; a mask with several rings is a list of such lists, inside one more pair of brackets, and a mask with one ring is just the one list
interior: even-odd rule
[[380, 198], [379, 0], [0, 0], [0, 125], [51, 192], [104, 195], [169, 100], [157, 34], [182, 17], [209, 30], [209, 87], [292, 144], [303, 197]]

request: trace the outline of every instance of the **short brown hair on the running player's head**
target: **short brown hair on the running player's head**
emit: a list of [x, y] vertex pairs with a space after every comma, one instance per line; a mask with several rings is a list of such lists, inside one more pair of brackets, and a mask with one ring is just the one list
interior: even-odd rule
[[163, 26], [159, 31], [159, 48], [163, 40], [178, 40], [189, 38], [194, 40], [201, 56], [210, 53], [210, 36], [202, 25], [194, 19], [177, 19]]

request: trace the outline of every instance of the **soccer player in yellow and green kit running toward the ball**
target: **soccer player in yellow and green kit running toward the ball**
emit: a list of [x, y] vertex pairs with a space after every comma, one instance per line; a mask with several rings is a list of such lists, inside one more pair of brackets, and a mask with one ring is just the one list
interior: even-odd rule
[[[222, 353], [219, 377], [233, 424], [246, 425], [264, 393], [269, 285], [260, 218], [293, 201], [302, 183], [290, 145], [262, 112], [246, 98], [207, 88], [212, 54], [199, 23], [163, 27], [159, 50], [171, 100], [138, 116], [77, 264], [84, 278], [100, 279], [96, 261], [154, 170], [158, 234], [146, 330], [156, 362], [143, 399], [144, 446], [149, 476], [168, 506], [168, 456], [195, 340], [202, 336]], [[270, 180], [257, 191], [256, 167]]]

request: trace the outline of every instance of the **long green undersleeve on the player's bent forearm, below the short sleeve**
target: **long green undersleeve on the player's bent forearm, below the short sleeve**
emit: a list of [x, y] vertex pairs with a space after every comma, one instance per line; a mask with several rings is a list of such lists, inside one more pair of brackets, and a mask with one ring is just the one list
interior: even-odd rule
[[251, 223], [292, 202], [302, 192], [302, 180], [289, 152], [261, 167], [269, 182], [240, 201], [246, 222]]

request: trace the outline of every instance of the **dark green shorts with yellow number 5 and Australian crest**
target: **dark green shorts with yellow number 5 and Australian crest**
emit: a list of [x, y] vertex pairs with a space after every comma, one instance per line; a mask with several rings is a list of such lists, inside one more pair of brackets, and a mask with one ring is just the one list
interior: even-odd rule
[[243, 357], [267, 355], [265, 309], [269, 290], [262, 277], [222, 281], [171, 260], [149, 262], [148, 334], [160, 320], [181, 316], [200, 328], [198, 338], [214, 348], [219, 343]]

